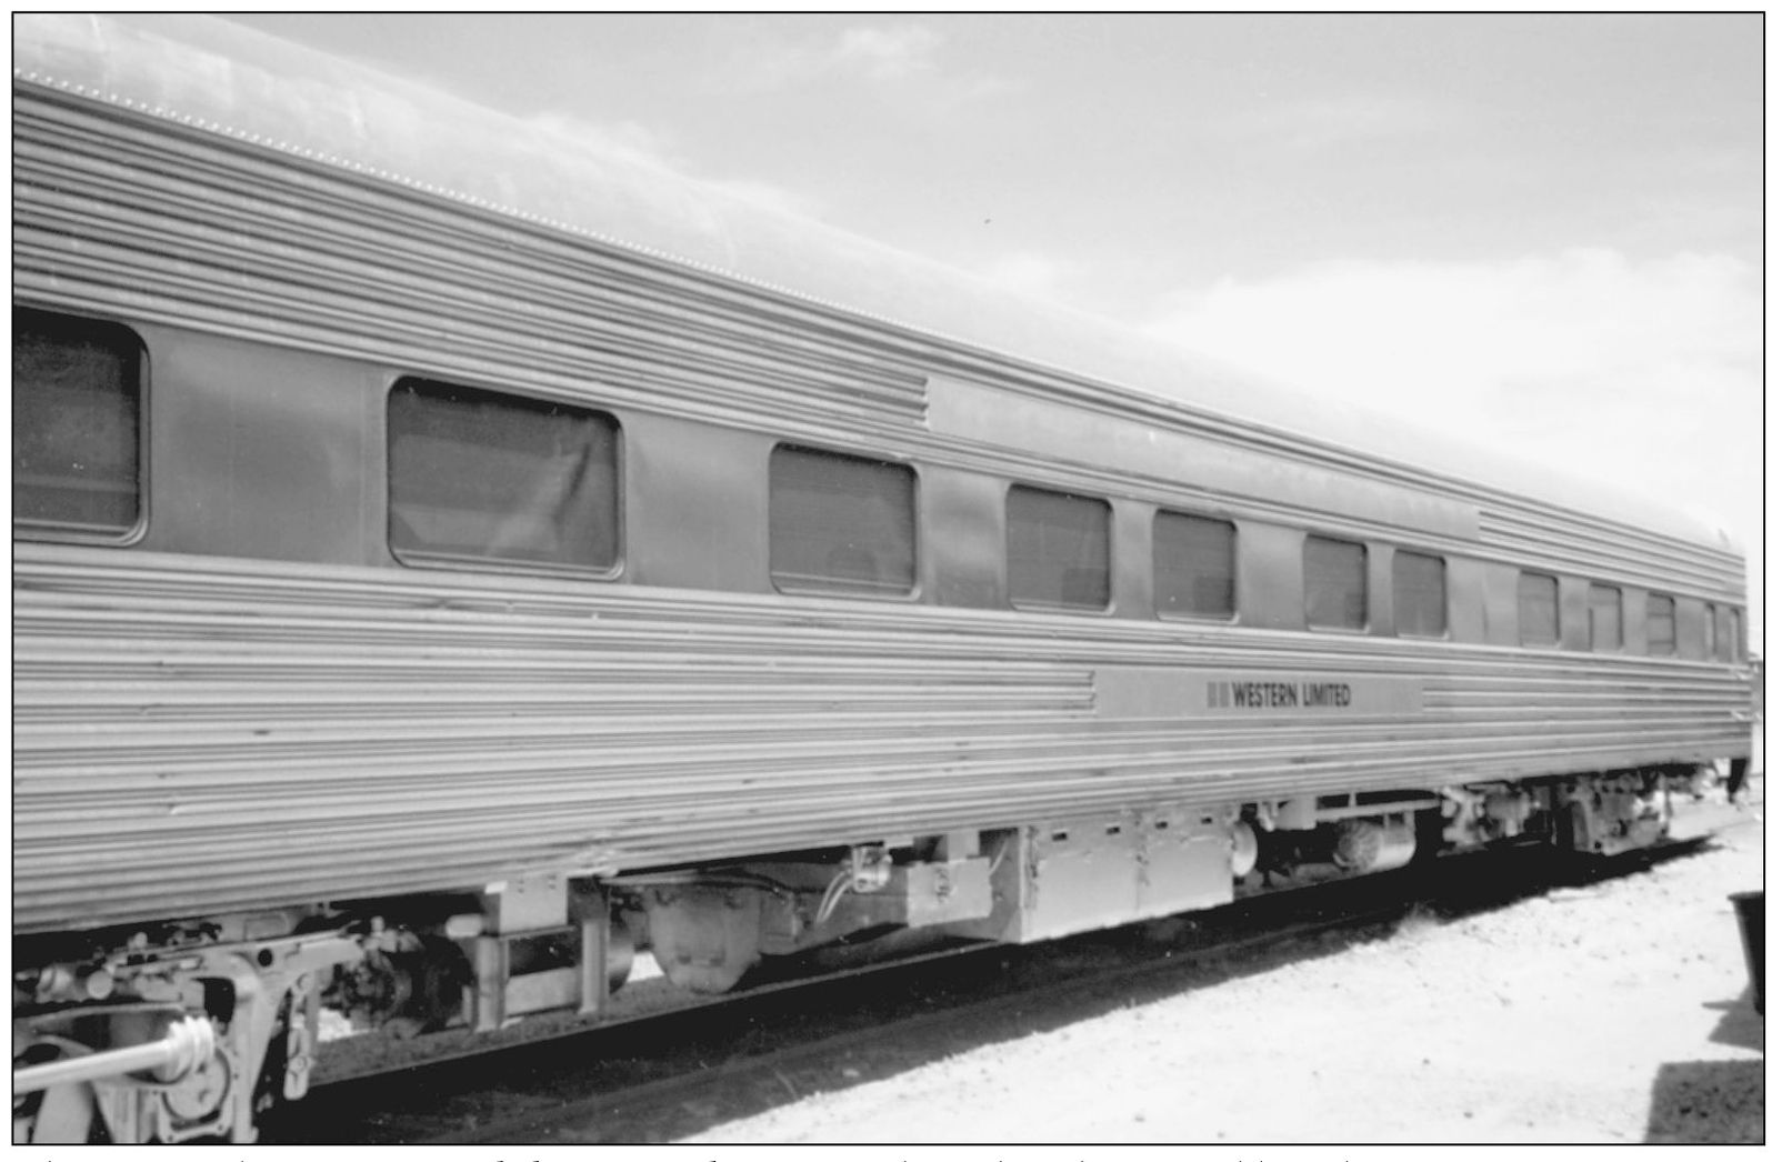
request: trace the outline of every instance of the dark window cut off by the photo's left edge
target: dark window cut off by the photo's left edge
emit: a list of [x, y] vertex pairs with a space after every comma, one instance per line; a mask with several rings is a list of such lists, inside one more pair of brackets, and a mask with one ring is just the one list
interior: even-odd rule
[[143, 511], [143, 342], [12, 308], [12, 524], [116, 535]]

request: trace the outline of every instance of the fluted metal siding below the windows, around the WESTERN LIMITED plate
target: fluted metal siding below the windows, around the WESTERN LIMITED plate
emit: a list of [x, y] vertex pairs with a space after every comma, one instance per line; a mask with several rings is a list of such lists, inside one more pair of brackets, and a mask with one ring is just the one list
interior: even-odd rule
[[[1727, 667], [16, 545], [14, 925], [1743, 752]], [[1418, 715], [1094, 716], [1094, 670]]]

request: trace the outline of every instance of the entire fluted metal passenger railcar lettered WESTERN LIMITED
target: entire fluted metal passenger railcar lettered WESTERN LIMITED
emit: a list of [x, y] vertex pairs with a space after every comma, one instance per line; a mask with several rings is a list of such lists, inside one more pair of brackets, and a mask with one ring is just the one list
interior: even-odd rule
[[223, 23], [18, 18], [12, 141], [20, 1137], [1745, 761], [1670, 511]]

